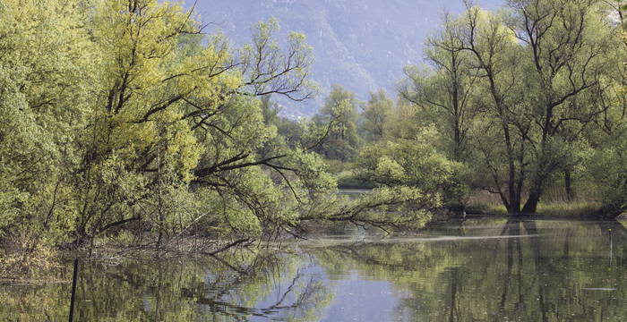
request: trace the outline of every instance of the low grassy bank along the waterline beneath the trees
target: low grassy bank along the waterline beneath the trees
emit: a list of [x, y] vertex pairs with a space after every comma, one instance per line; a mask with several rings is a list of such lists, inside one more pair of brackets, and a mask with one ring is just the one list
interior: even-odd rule
[[[340, 193], [351, 196], [351, 198], [367, 192], [368, 190], [340, 190]], [[476, 202], [477, 200], [474, 201]], [[608, 219], [607, 217], [598, 215], [600, 209], [602, 208], [598, 203], [580, 201], [568, 203], [553, 202], [540, 204], [537, 214], [531, 216], [510, 216], [502, 205], [493, 201], [483, 204], [477, 202], [470, 204], [466, 209], [466, 213], [468, 217], [473, 218]], [[447, 210], [446, 208], [438, 208], [434, 211], [434, 216], [431, 221], [437, 224], [449, 221], [454, 222], [458, 219], [460, 219], [459, 213]], [[623, 219], [623, 223], [627, 221], [627, 217], [619, 217], [616, 219]], [[314, 236], [320, 234], [341, 236], [347, 232], [348, 227], [355, 229], [352, 233], [373, 233], [361, 225], [353, 225], [345, 222], [316, 222], [316, 225], [304, 224], [301, 226], [302, 229], [305, 229], [308, 233], [312, 233]], [[383, 233], [385, 236], [389, 236], [389, 233], [391, 233], [387, 231], [377, 231], [374, 227], [371, 228], [376, 232]], [[192, 231], [195, 232], [196, 230], [190, 230], [190, 232]], [[398, 234], [398, 232], [395, 234]], [[286, 234], [283, 237], [293, 238], [294, 236]], [[170, 239], [169, 242], [163, 242], [159, 247], [157, 246], [157, 240], [157, 236], [150, 235], [150, 232], [120, 230], [119, 232], [109, 233], [106, 236], [99, 237], [92, 245], [85, 245], [78, 249], [72, 244], [65, 244], [62, 247], [38, 244], [36, 248], [28, 248], [24, 246], [27, 244], [11, 244], [9, 242], [0, 241], [0, 244], [4, 247], [0, 249], [0, 279], [20, 283], [47, 281], [47, 278], [42, 277], [40, 272], [56, 269], [59, 263], [66, 261], [68, 257], [67, 254], [74, 254], [70, 256], [72, 258], [89, 258], [89, 260], [116, 265], [120, 258], [126, 257], [126, 254], [131, 254], [132, 257], [136, 254], [150, 254], [150, 256], [157, 258], [185, 256], [189, 254], [214, 256], [231, 248], [245, 248], [248, 246], [253, 246], [254, 248], [268, 244], [265, 240], [250, 240], [248, 238], [228, 238], [220, 240], [202, 233], [198, 235], [184, 234], [176, 236]], [[279, 238], [279, 241], [280, 240]]]

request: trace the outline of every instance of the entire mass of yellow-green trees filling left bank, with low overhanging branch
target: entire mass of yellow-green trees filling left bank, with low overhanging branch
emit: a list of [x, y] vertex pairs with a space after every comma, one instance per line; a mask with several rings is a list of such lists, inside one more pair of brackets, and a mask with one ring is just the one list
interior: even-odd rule
[[[304, 220], [419, 223], [436, 196], [400, 186], [335, 196], [313, 152], [335, 120], [301, 124], [297, 142], [265, 122], [260, 97], [315, 93], [305, 36], [278, 29], [259, 23], [232, 47], [179, 4], [0, 1], [5, 248], [84, 245], [130, 227], [159, 248], [192, 228], [252, 241], [300, 233]], [[407, 201], [423, 207], [368, 211]]]

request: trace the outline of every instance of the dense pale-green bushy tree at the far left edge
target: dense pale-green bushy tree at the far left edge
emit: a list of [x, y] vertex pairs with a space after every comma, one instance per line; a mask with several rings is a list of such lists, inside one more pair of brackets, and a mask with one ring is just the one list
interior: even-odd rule
[[85, 11], [56, 1], [0, 4], [0, 235], [21, 235], [26, 253], [63, 242], [72, 225], [65, 210], [80, 162], [75, 142], [99, 89]]

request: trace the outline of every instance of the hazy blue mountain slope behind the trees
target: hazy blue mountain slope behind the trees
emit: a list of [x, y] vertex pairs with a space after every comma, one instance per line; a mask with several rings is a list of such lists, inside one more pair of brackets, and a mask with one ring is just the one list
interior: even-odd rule
[[[193, 0], [185, 0], [187, 5]], [[505, 0], [478, 4], [496, 9]], [[461, 0], [199, 0], [196, 12], [209, 33], [221, 30], [237, 45], [250, 42], [253, 25], [271, 17], [281, 34], [302, 32], [314, 47], [312, 79], [320, 97], [303, 104], [287, 100], [283, 114], [314, 114], [331, 85], [339, 84], [367, 99], [370, 91], [395, 84], [408, 64], [421, 64], [422, 44], [441, 24], [442, 13], [460, 13]]]

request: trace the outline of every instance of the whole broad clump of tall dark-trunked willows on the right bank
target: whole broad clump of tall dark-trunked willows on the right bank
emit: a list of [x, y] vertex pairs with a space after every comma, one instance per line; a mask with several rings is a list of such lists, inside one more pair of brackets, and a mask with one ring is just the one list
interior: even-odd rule
[[532, 214], [560, 175], [571, 195], [571, 173], [602, 149], [593, 128], [616, 111], [601, 93], [616, 85], [623, 46], [615, 8], [595, 0], [517, 0], [499, 13], [466, 5], [430, 38], [432, 70], [409, 68], [401, 94], [437, 120], [453, 143], [449, 156], [477, 173], [475, 188], [499, 196], [511, 214]]

